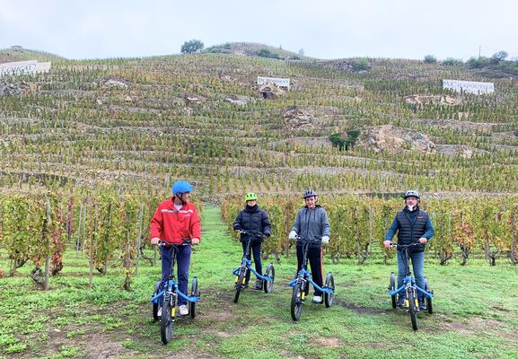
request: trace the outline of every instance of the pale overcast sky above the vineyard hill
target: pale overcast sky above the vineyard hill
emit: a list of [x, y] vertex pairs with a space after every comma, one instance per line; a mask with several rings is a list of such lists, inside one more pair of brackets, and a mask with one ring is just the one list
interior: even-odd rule
[[319, 58], [518, 58], [518, 0], [0, 0], [0, 48], [67, 58], [180, 53], [200, 39]]

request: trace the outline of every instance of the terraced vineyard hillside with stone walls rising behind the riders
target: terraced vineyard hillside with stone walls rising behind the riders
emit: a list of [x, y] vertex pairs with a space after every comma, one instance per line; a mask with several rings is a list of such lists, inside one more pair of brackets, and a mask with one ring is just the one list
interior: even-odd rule
[[[162, 191], [185, 177], [203, 195], [516, 190], [515, 81], [414, 114], [405, 96], [453, 96], [442, 78], [487, 79], [418, 61], [372, 60], [365, 74], [344, 64], [217, 54], [57, 62], [14, 79], [30, 83], [22, 95], [0, 97], [1, 183]], [[258, 75], [289, 77], [291, 91], [261, 100]], [[407, 129], [408, 141], [392, 151], [361, 143], [367, 127], [386, 125]], [[330, 135], [350, 130], [356, 146], [332, 146]], [[415, 133], [435, 146], [412, 150]]]

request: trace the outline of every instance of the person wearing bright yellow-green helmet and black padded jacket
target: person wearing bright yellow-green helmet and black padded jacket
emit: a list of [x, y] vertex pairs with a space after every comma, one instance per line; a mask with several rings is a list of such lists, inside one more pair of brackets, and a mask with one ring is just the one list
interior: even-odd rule
[[[237, 215], [235, 218], [235, 221], [233, 222], [233, 229], [234, 231], [246, 231], [250, 232], [252, 234], [258, 234], [259, 236], [262, 234], [266, 237], [270, 236], [271, 232], [271, 224], [268, 219], [267, 213], [259, 208], [257, 204], [258, 196], [257, 194], [250, 192], [247, 193], [244, 197], [246, 205], [241, 210], [241, 212]], [[261, 252], [261, 244], [263, 239], [256, 235], [249, 235], [245, 233], [241, 233], [241, 244], [242, 244], [242, 251], [243, 255], [245, 254], [246, 250], [246, 242], [245, 240], [248, 240], [249, 237], [251, 239], [250, 243], [250, 251], [253, 253], [253, 260], [255, 263], [255, 270], [259, 273], [259, 275], [262, 276], [262, 264], [261, 264], [261, 258], [260, 258], [260, 252]], [[250, 259], [250, 252], [248, 254], [248, 258]], [[246, 279], [245, 279], [245, 287], [249, 285], [250, 281], [250, 270], [247, 272]], [[253, 289], [261, 290], [262, 289], [262, 279], [259, 277], [257, 278], [256, 285]]]

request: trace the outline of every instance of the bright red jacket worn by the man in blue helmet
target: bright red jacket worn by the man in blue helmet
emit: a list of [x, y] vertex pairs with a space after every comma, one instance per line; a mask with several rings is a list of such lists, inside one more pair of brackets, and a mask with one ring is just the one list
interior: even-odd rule
[[191, 203], [177, 210], [172, 199], [162, 202], [154, 212], [149, 229], [151, 238], [158, 237], [168, 243], [182, 243], [182, 238], [201, 240], [198, 212]]

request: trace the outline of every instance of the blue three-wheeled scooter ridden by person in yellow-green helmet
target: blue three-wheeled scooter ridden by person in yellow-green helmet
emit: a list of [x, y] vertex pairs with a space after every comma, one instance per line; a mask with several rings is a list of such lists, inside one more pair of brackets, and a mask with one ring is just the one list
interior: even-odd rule
[[257, 276], [259, 279], [263, 281], [263, 290], [265, 293], [270, 293], [273, 289], [273, 284], [275, 280], [275, 268], [273, 263], [269, 263], [267, 270], [265, 271], [265, 275], [259, 275], [257, 271], [255, 271], [251, 267], [251, 259], [249, 259], [250, 255], [250, 242], [252, 237], [258, 237], [263, 238], [264, 235], [262, 233], [250, 233], [247, 231], [240, 230], [241, 233], [248, 234], [248, 237], [245, 239], [246, 241], [246, 249], [245, 253], [242, 256], [241, 259], [241, 266], [237, 267], [233, 270], [233, 275], [236, 276], [235, 278], [235, 294], [233, 297], [233, 302], [239, 301], [239, 295], [241, 291], [244, 289], [245, 281], [247, 272], [250, 270], [255, 276]]

